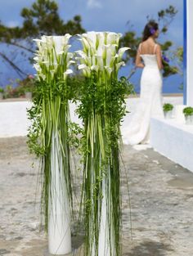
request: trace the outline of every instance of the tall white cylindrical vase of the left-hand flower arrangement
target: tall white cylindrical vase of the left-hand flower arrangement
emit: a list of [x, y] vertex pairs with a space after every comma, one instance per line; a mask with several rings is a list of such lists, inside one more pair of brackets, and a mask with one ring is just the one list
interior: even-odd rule
[[61, 148], [58, 134], [52, 134], [51, 194], [49, 196], [48, 247], [54, 255], [70, 254], [70, 204], [62, 172]]

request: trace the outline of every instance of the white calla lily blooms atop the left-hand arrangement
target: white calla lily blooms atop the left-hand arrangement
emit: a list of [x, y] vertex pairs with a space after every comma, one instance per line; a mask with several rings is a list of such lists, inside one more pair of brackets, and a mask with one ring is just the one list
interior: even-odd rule
[[64, 80], [68, 74], [73, 73], [70, 65], [75, 63], [72, 61], [74, 54], [68, 52], [71, 47], [68, 44], [70, 37], [70, 34], [65, 34], [63, 37], [43, 36], [41, 39], [34, 39], [38, 46], [34, 68], [39, 80], [50, 83]]

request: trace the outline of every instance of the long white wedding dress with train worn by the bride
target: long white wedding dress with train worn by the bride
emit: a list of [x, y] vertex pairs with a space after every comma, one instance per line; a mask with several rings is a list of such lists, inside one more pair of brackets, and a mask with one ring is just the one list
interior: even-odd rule
[[[155, 51], [154, 51], [155, 52]], [[145, 67], [141, 74], [141, 92], [136, 110], [128, 127], [123, 132], [123, 143], [148, 144], [150, 139], [150, 118], [164, 117], [162, 107], [162, 74], [155, 54], [141, 54]]]

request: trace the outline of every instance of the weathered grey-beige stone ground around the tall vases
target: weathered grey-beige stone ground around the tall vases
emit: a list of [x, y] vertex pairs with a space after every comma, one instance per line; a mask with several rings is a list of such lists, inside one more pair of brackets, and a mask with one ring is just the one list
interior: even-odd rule
[[[39, 229], [38, 165], [32, 168], [25, 141], [0, 139], [1, 256], [43, 256], [47, 250]], [[123, 255], [192, 256], [193, 173], [150, 148], [124, 146], [123, 162]], [[73, 237], [74, 248], [80, 243]]]

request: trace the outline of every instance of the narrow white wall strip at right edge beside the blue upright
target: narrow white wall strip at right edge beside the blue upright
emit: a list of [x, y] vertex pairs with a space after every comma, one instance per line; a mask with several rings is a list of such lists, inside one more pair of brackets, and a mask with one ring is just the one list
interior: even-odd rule
[[193, 106], [193, 0], [186, 0], [187, 7], [187, 77], [186, 77], [186, 105]]

